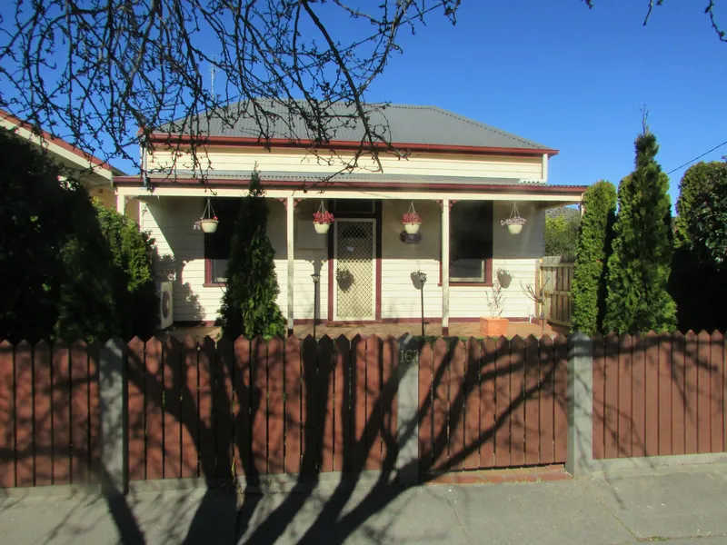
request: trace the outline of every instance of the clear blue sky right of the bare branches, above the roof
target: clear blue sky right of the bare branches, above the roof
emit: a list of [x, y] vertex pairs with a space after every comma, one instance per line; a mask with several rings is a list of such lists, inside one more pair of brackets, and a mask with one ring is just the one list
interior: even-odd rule
[[[706, 2], [464, 0], [403, 40], [366, 97], [434, 104], [559, 149], [551, 183], [618, 183], [632, 171], [640, 108], [665, 172], [727, 140], [727, 44]], [[727, 27], [727, 3], [722, 1]], [[718, 14], [719, 15], [719, 14]], [[704, 157], [719, 160], [727, 145]], [[672, 203], [685, 169], [672, 173]]]

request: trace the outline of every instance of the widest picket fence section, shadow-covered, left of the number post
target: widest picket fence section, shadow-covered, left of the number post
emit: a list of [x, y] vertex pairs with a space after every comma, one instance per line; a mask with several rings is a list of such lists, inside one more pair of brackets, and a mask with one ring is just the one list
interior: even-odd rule
[[396, 354], [393, 337], [134, 339], [129, 478], [392, 469]]

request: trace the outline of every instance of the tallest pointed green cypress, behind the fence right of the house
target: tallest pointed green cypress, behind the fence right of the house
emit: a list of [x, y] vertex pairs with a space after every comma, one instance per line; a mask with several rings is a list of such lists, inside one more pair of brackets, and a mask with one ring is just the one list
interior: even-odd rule
[[635, 148], [634, 171], [619, 186], [603, 328], [672, 332], [676, 305], [667, 291], [672, 263], [669, 177], [656, 162], [659, 145], [645, 125]]

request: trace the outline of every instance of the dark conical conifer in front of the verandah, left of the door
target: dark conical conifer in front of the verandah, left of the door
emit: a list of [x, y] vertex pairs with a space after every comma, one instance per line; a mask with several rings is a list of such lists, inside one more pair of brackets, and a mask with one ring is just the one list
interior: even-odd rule
[[237, 221], [222, 308], [222, 332], [229, 339], [240, 335], [284, 336], [283, 313], [275, 300], [280, 288], [275, 276], [274, 250], [267, 236], [267, 205], [255, 170], [250, 193], [244, 197]]

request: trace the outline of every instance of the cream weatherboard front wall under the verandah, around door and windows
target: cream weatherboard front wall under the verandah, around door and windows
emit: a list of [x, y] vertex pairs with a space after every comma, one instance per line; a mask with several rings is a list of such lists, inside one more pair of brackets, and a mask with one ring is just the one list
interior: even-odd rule
[[[270, 211], [268, 235], [275, 251], [280, 295], [278, 305], [287, 312], [287, 274], [285, 208], [275, 199], [267, 199]], [[326, 235], [301, 233], [312, 230], [313, 212], [318, 200], [306, 199], [295, 208], [295, 266], [294, 266], [294, 318], [310, 320], [314, 317], [314, 283], [311, 274], [320, 272], [320, 299], [318, 316], [328, 317], [328, 250]], [[439, 255], [441, 244], [442, 210], [432, 201], [415, 201], [422, 215], [420, 229], [422, 241], [405, 244], [399, 239], [403, 231], [402, 214], [409, 201], [383, 201], [382, 203], [382, 318], [416, 319], [420, 316], [420, 292], [412, 280], [412, 273], [427, 274], [424, 285], [424, 315], [427, 318], [442, 315], [442, 288], [439, 283]], [[512, 203], [495, 203], [493, 218], [493, 270], [502, 267], [512, 275], [505, 289], [503, 315], [527, 317], [534, 312], [534, 303], [521, 289], [534, 283], [536, 263], [543, 254], [544, 213], [536, 212], [532, 204], [520, 203], [520, 213], [528, 223], [519, 235], [511, 235], [500, 226], [500, 220], [510, 214]], [[156, 263], [160, 279], [174, 280], [174, 321], [214, 321], [222, 302], [224, 288], [204, 286], [204, 234], [193, 229], [204, 209], [204, 197], [144, 197], [141, 200], [140, 224], [154, 237], [160, 261]], [[452, 213], [456, 213], [456, 203]], [[321, 237], [315, 239], [311, 237]], [[317, 242], [317, 243], [316, 243]], [[313, 246], [313, 247], [312, 247]], [[317, 246], [317, 247], [316, 247]], [[450, 314], [453, 318], [476, 318], [487, 313], [485, 292], [491, 288], [478, 286], [452, 286], [450, 288]]]

